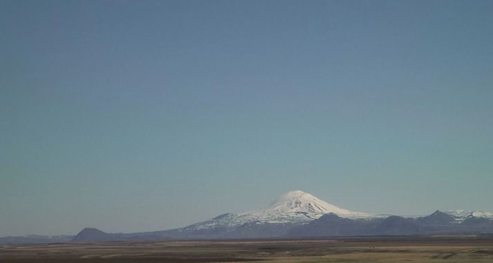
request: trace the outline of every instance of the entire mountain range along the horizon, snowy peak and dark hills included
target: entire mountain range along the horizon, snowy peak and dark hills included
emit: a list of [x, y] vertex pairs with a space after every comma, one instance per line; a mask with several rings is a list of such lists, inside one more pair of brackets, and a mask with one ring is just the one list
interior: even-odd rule
[[141, 233], [105, 233], [84, 228], [77, 235], [0, 237], [0, 244], [436, 233], [493, 233], [493, 213], [437, 210], [421, 217], [375, 215], [340, 208], [298, 190], [253, 211], [223, 213], [183, 228]]

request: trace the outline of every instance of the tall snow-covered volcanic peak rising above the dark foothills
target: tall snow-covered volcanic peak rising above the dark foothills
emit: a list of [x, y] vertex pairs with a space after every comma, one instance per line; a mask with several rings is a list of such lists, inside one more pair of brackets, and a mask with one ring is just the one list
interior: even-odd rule
[[187, 228], [203, 229], [232, 227], [245, 223], [254, 224], [299, 224], [310, 222], [327, 213], [351, 219], [371, 219], [380, 217], [364, 212], [349, 211], [323, 201], [303, 191], [290, 191], [275, 199], [268, 206], [254, 211], [238, 214], [223, 214]]

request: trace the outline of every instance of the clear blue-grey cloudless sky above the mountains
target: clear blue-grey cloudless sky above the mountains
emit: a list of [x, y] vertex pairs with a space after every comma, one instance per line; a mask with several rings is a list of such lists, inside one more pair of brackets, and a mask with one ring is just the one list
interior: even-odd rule
[[0, 236], [302, 190], [493, 211], [493, 1], [0, 0]]

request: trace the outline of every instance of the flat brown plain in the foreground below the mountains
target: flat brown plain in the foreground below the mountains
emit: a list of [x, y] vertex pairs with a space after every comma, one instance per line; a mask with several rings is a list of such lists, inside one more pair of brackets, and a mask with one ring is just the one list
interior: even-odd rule
[[493, 262], [493, 239], [369, 237], [0, 246], [0, 262]]

